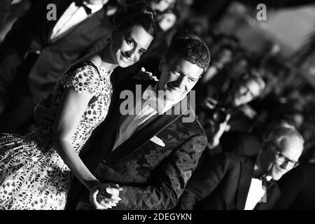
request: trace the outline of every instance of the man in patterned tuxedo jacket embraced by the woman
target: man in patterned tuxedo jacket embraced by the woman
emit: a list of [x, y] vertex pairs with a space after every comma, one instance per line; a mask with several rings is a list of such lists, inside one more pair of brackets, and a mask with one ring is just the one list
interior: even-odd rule
[[[199, 122], [183, 117], [193, 113], [191, 106], [183, 104], [193, 102], [193, 94], [188, 93], [209, 60], [209, 49], [200, 38], [177, 36], [160, 61], [158, 83], [131, 78], [120, 85], [117, 96], [123, 99], [112, 105], [81, 155], [104, 187], [97, 198], [107, 204], [99, 202], [97, 209], [175, 207], [207, 145]], [[125, 106], [129, 93], [135, 93], [136, 98]], [[134, 109], [136, 112], [130, 113]], [[115, 184], [123, 190], [116, 190]], [[81, 193], [82, 187], [74, 181], [68, 209], [92, 209], [87, 191]]]

